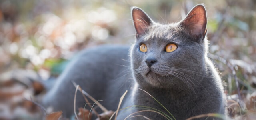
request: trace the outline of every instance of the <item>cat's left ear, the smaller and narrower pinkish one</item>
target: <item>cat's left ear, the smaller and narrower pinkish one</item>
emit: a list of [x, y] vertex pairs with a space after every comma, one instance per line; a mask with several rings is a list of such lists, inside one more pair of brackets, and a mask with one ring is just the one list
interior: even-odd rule
[[132, 8], [132, 20], [136, 30], [136, 37], [145, 34], [148, 27], [153, 23], [150, 17], [140, 8]]

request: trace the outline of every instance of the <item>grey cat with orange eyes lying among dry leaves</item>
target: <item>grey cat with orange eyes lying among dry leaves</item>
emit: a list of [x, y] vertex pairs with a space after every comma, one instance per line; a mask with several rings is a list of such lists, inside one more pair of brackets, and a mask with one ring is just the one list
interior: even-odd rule
[[[221, 78], [207, 57], [204, 5], [194, 6], [183, 20], [172, 24], [156, 23], [142, 9], [133, 7], [132, 20], [136, 40], [131, 47], [103, 45], [81, 51], [42, 104], [70, 117], [74, 114], [75, 82], [114, 111], [128, 90], [117, 120], [185, 120], [208, 113], [225, 116]], [[78, 92], [76, 108], [85, 104]]]

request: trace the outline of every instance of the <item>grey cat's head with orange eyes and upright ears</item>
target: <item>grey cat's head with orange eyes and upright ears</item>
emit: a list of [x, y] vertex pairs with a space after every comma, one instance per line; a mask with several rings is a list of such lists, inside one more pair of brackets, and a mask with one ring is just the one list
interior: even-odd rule
[[170, 88], [196, 84], [206, 71], [206, 10], [192, 8], [178, 23], [158, 24], [132, 8], [136, 42], [131, 48], [133, 75], [140, 86]]

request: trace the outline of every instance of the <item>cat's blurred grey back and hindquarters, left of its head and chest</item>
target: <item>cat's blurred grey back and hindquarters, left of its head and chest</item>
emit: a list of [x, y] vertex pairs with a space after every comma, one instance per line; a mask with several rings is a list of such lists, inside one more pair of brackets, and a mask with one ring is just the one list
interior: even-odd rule
[[[116, 109], [117, 103], [112, 101], [118, 101], [130, 87], [129, 59], [128, 46], [102, 45], [82, 50], [71, 60], [52, 90], [46, 94], [44, 106], [52, 106], [54, 111], [62, 110], [64, 116], [70, 116], [74, 111], [74, 82], [96, 100], [103, 100], [101, 104], [106, 108]], [[113, 91], [119, 92], [112, 95]], [[76, 97], [77, 108], [84, 106], [82, 94], [78, 92]]]

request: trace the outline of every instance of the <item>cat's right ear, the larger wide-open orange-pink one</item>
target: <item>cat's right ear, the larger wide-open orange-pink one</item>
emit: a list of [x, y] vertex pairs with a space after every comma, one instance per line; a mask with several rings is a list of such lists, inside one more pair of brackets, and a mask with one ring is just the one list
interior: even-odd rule
[[206, 10], [202, 4], [194, 6], [180, 23], [190, 36], [204, 38], [207, 32]]

